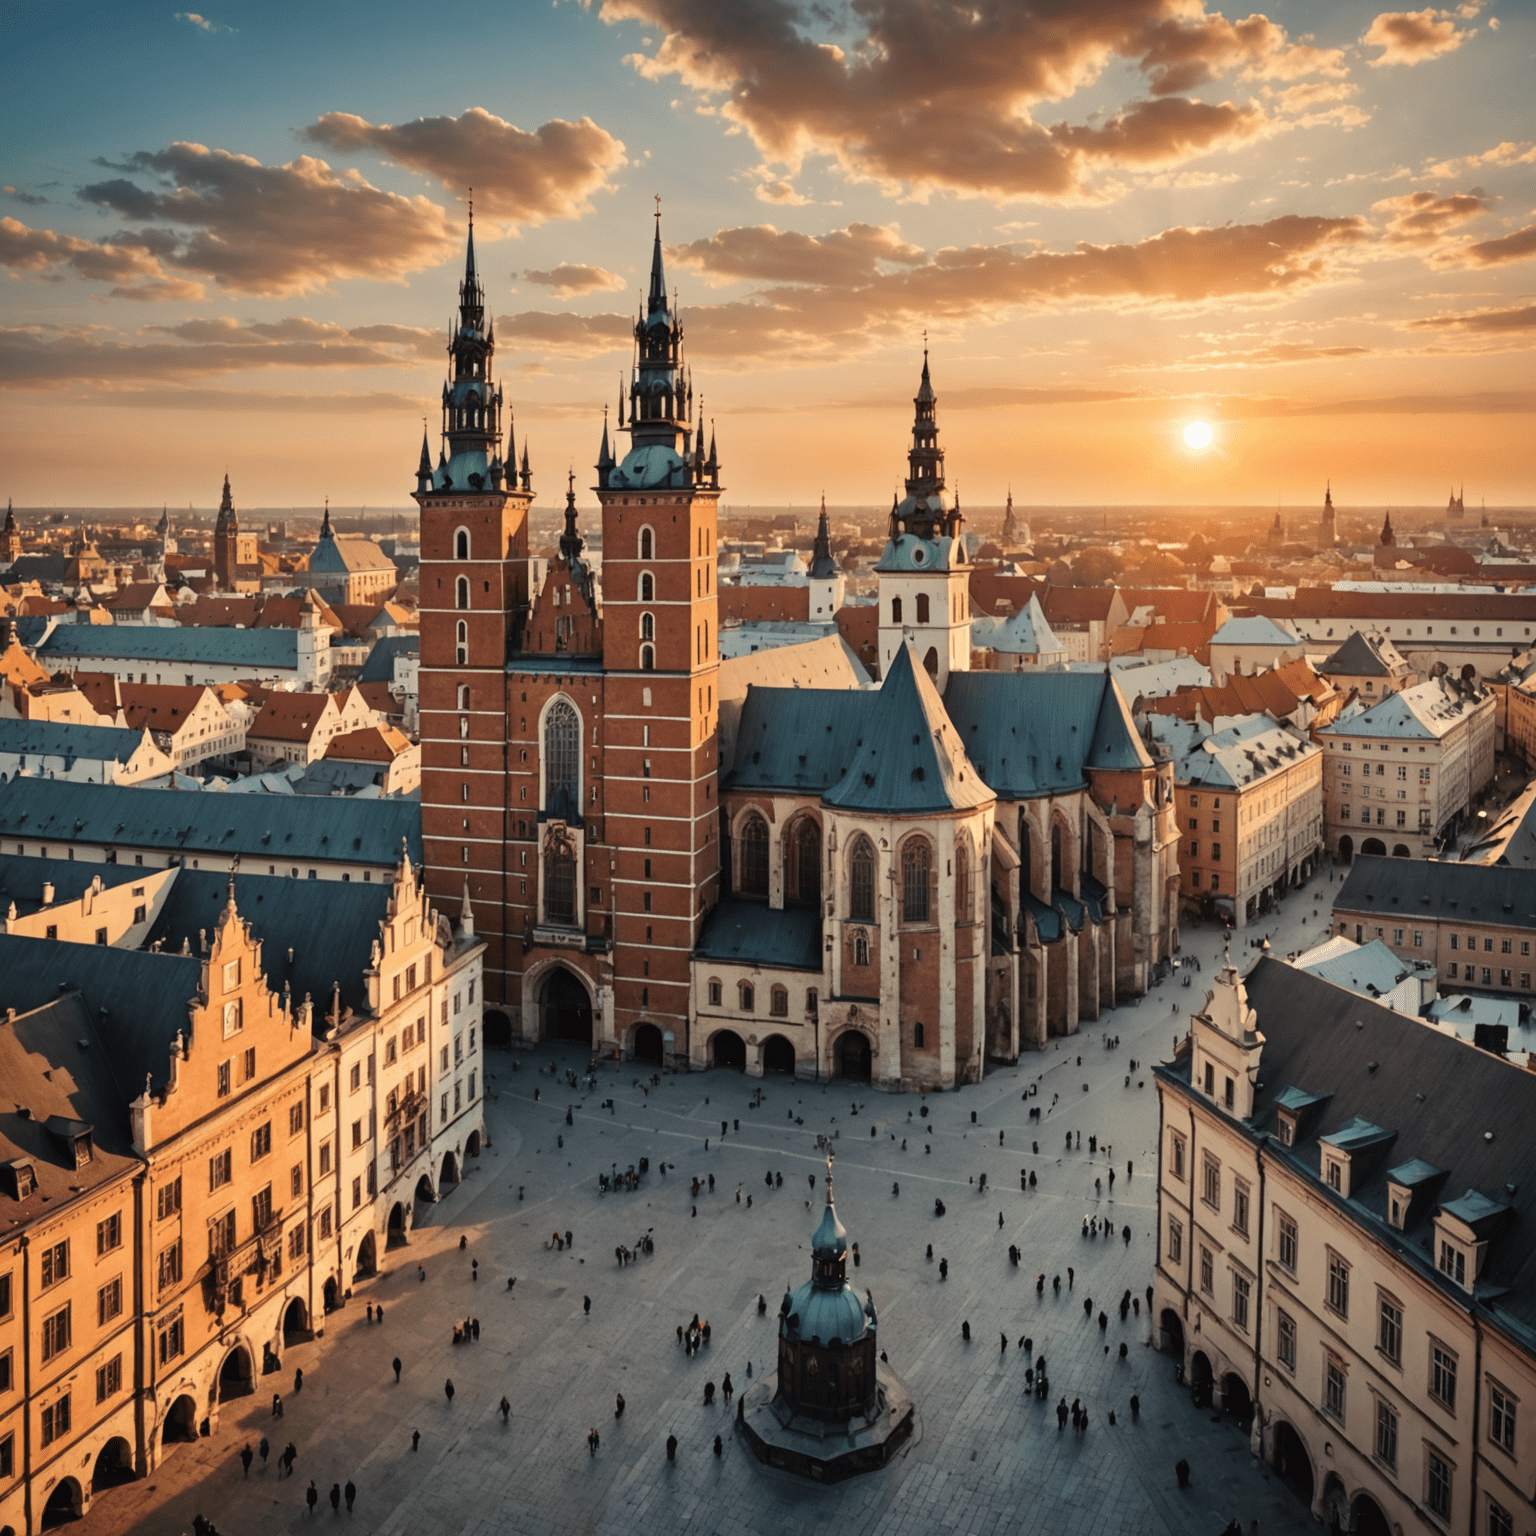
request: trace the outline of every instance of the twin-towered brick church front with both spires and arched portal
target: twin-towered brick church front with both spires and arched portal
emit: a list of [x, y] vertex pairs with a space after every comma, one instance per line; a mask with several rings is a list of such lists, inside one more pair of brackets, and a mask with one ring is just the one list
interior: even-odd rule
[[502, 396], [473, 232], [450, 339], [444, 439], [422, 442], [421, 736], [427, 885], [465, 883], [487, 940], [487, 1038], [590, 1041], [687, 1060], [690, 969], [717, 899], [713, 442], [693, 419], [660, 226], [616, 459], [596, 493], [602, 590], [574, 484], [530, 590], [527, 449], [501, 456]]

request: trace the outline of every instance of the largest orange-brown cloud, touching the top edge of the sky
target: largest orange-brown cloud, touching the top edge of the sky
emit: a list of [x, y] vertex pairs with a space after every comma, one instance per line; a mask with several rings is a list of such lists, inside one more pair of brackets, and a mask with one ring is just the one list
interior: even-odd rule
[[[1292, 45], [1263, 15], [1206, 14], [1200, 0], [862, 0], [852, 18], [863, 35], [846, 48], [817, 40], [826, 12], [794, 0], [601, 0], [601, 14], [654, 28], [659, 41], [630, 63], [645, 78], [723, 95], [719, 114], [768, 164], [794, 175], [808, 157], [829, 157], [849, 178], [915, 197], [1103, 197], [1097, 172], [1180, 163], [1267, 127], [1258, 106], [1175, 92], [1233, 69], [1344, 74], [1341, 51]], [[1035, 120], [1040, 103], [1074, 95], [1115, 58], [1157, 100], [1132, 101], [1101, 127]]]

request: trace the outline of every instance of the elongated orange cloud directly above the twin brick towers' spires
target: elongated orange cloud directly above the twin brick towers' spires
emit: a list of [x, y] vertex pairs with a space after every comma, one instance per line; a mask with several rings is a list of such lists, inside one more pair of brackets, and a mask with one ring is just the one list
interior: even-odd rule
[[485, 214], [515, 226], [590, 214], [591, 194], [611, 192], [608, 178], [624, 164], [622, 140], [590, 117], [553, 118], [530, 134], [478, 106], [399, 124], [327, 112], [304, 137], [332, 149], [376, 149], [456, 195], [473, 186]]

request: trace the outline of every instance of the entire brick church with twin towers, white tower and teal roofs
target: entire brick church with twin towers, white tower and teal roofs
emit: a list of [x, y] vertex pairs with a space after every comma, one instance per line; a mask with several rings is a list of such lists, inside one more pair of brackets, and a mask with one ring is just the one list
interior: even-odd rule
[[535, 584], [472, 233], [415, 493], [421, 814], [429, 889], [468, 879], [487, 1029], [940, 1087], [1144, 989], [1178, 946], [1170, 763], [1106, 674], [971, 670], [926, 358], [883, 688], [748, 688], [722, 782], [720, 468], [659, 227], [634, 344], [630, 445], [605, 422], [596, 465], [602, 590], [574, 485]]

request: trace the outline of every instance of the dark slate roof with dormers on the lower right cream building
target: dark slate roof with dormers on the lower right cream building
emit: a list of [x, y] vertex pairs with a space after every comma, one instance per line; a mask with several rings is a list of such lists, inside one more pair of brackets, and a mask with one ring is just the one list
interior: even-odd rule
[[[1385, 1220], [1389, 1175], [1422, 1161], [1445, 1170], [1441, 1193], [1458, 1209], [1464, 1190], [1478, 1192], [1479, 1221], [1490, 1213], [1487, 1201], [1507, 1206], [1478, 1281], [1478, 1304], [1522, 1335], [1527, 1347], [1536, 1344], [1536, 1180], [1530, 1177], [1536, 1074], [1283, 960], [1260, 960], [1247, 975], [1247, 994], [1264, 1034], [1253, 1130], [1275, 1130], [1276, 1100], [1290, 1086], [1332, 1095], [1296, 1146], [1284, 1147], [1272, 1137], [1266, 1157], [1310, 1177], [1316, 1198], [1347, 1210], [1459, 1306], [1470, 1298], [1435, 1269], [1430, 1218], [1436, 1204], [1415, 1200], [1407, 1230], [1395, 1230]], [[1187, 1083], [1187, 1060], [1157, 1071]], [[1344, 1201], [1319, 1177], [1316, 1141], [1356, 1118], [1395, 1140]], [[1484, 1135], [1488, 1130], [1491, 1140]]]

